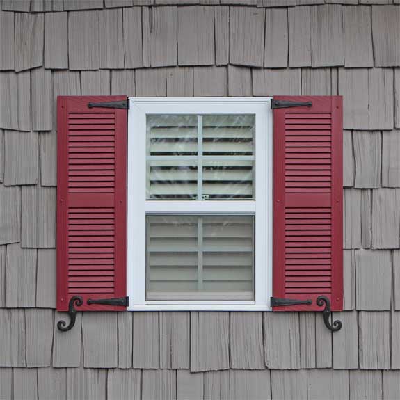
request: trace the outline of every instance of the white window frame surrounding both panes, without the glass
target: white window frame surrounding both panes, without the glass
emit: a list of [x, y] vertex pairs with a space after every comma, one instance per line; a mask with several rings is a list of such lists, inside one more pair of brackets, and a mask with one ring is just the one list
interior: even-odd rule
[[[129, 311], [269, 311], [272, 296], [272, 97], [129, 97]], [[255, 114], [255, 200], [146, 200], [147, 114]], [[255, 215], [254, 301], [146, 301], [146, 214]]]

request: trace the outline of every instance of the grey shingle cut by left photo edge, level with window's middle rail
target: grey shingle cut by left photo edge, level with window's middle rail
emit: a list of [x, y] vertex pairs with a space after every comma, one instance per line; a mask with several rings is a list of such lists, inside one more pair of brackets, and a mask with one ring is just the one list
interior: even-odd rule
[[18, 242], [20, 232], [21, 191], [0, 186], [0, 244]]

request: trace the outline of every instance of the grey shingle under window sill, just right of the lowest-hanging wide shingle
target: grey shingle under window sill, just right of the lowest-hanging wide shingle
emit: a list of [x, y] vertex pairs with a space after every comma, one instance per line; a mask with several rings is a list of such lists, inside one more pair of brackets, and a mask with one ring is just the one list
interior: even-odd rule
[[264, 369], [261, 312], [230, 313], [230, 367]]

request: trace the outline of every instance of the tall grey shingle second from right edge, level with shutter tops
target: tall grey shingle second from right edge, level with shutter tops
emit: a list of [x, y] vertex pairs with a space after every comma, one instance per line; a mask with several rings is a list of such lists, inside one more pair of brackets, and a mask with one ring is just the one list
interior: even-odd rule
[[393, 129], [393, 70], [369, 70], [368, 83], [369, 129]]

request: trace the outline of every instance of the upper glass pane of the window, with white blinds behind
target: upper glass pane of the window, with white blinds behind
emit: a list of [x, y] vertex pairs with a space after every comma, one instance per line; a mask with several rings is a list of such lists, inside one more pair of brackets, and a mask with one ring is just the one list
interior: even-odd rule
[[255, 115], [147, 115], [147, 199], [252, 200]]

